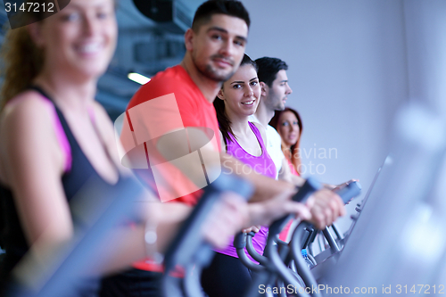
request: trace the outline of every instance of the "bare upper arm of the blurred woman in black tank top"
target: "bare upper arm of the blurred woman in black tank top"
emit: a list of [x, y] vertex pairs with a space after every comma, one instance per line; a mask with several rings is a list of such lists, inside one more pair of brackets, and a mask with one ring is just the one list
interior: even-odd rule
[[61, 183], [62, 150], [45, 103], [30, 92], [21, 96], [20, 103], [4, 111], [1, 123], [5, 183], [28, 243], [44, 233], [48, 242], [61, 243], [73, 232]]

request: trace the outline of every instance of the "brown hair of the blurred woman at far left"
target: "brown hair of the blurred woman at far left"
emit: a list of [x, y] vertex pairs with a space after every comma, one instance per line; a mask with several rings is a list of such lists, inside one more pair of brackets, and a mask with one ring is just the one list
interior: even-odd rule
[[44, 63], [43, 50], [29, 36], [28, 26], [9, 29], [1, 49], [4, 84], [0, 91], [0, 110], [23, 92], [37, 77]]

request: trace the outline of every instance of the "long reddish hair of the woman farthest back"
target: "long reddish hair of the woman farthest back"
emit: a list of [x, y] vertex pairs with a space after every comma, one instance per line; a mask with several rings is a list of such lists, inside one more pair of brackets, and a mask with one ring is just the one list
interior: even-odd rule
[[294, 115], [296, 116], [297, 119], [297, 125], [299, 126], [299, 137], [297, 138], [297, 142], [293, 145], [291, 145], [291, 148], [288, 149], [284, 143], [284, 140], [282, 138], [282, 152], [284, 152], [285, 157], [288, 158], [293, 166], [294, 169], [296, 169], [296, 171], [301, 174], [301, 152], [300, 152], [300, 147], [301, 147], [301, 134], [302, 134], [302, 120], [301, 120], [301, 116], [299, 115], [299, 112], [293, 110], [292, 108], [286, 107], [285, 110], [283, 111], [276, 111], [274, 113], [274, 117], [269, 121], [269, 125], [272, 126], [273, 128], [275, 128], [277, 130], [277, 132], [280, 134], [280, 130], [278, 128], [279, 125], [279, 119], [280, 116], [285, 112], [285, 111], [291, 111], [294, 113]]

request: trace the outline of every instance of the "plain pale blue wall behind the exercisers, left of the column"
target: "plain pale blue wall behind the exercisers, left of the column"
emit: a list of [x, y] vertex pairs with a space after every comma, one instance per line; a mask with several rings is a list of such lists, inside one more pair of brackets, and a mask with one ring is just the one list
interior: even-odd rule
[[[355, 177], [367, 190], [388, 153], [392, 115], [408, 100], [402, 1], [243, 3], [252, 18], [246, 53], [289, 65], [287, 104], [303, 119], [302, 151], [313, 149], [303, 163], [321, 164], [323, 181]], [[337, 158], [334, 151], [331, 159], [314, 158], [315, 147], [335, 148]]]

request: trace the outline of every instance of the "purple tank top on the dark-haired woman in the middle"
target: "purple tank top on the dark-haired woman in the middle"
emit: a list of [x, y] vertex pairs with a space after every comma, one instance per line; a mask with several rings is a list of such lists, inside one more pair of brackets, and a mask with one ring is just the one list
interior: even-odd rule
[[[268, 155], [267, 148], [261, 138], [260, 131], [257, 127], [255, 127], [252, 122], [248, 122], [252, 132], [257, 137], [257, 141], [261, 147], [261, 155], [256, 157], [252, 154], [246, 152], [240, 144], [237, 143], [233, 136], [230, 136], [231, 139], [227, 141], [227, 153], [239, 161], [244, 162], [244, 166], [241, 170], [244, 172], [248, 172], [248, 170], [255, 170], [257, 173], [260, 173], [266, 177], [276, 178], [276, 165], [274, 165], [274, 161], [272, 161], [271, 157]], [[263, 254], [263, 250], [265, 249], [265, 245], [267, 243], [268, 237], [268, 227], [260, 227], [260, 231], [252, 238], [252, 245], [254, 249]], [[238, 258], [237, 252], [234, 247], [234, 237], [231, 237], [231, 241], [229, 245], [222, 250], [215, 249], [215, 252], [219, 252], [231, 257]], [[255, 263], [257, 261], [253, 260], [249, 253], [244, 249], [244, 252]]]

